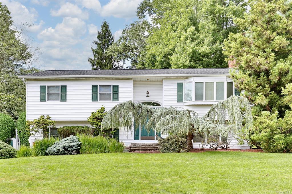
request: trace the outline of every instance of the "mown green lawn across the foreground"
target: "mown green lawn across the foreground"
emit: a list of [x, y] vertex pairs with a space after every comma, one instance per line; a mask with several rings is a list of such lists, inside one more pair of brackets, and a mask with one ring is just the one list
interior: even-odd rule
[[0, 193], [292, 192], [292, 154], [208, 151], [0, 160]]

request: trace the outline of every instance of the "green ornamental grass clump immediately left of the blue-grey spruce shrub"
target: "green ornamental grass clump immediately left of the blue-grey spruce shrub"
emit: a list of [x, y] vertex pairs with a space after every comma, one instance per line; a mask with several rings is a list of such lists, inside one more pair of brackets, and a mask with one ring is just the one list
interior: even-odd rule
[[51, 147], [55, 142], [59, 141], [59, 138], [44, 138], [42, 140], [36, 140], [32, 146], [34, 156], [45, 156], [46, 149]]

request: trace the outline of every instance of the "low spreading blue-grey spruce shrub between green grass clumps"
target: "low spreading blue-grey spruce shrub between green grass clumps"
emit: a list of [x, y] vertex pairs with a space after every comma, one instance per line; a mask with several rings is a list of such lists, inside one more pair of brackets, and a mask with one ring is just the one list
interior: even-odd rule
[[78, 137], [71, 135], [58, 142], [55, 142], [46, 150], [48, 155], [73, 155], [79, 154], [81, 142]]

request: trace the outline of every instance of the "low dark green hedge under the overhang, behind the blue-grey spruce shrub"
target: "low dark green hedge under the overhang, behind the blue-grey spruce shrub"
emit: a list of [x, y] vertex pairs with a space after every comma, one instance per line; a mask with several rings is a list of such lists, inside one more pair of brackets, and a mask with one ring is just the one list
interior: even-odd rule
[[98, 135], [98, 131], [95, 128], [91, 128], [88, 126], [64, 126], [57, 129], [58, 134], [62, 138], [70, 137], [71, 135], [76, 136], [79, 134], [84, 135]]

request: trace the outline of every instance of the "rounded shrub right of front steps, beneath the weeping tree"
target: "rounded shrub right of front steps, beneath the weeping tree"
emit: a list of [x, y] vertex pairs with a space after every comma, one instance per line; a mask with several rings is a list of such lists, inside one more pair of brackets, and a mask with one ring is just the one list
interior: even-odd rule
[[187, 152], [187, 140], [176, 135], [168, 135], [166, 138], [160, 138], [158, 144], [161, 146], [160, 152]]

